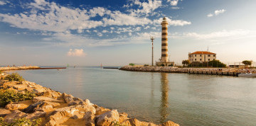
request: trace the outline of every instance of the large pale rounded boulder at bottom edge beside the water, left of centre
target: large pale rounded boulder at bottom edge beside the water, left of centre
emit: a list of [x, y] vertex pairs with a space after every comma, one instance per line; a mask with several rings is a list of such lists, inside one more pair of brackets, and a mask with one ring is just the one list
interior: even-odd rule
[[117, 110], [111, 110], [102, 115], [98, 115], [96, 118], [96, 125], [111, 125], [112, 122], [119, 121], [119, 113]]

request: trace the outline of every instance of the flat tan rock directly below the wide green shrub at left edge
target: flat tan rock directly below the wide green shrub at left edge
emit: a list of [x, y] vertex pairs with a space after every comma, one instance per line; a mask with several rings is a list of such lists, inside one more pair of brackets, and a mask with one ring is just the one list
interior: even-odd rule
[[24, 108], [27, 108], [28, 105], [30, 105], [31, 103], [32, 103], [31, 100], [9, 103], [8, 105], [5, 106], [5, 108], [7, 110], [23, 110]]

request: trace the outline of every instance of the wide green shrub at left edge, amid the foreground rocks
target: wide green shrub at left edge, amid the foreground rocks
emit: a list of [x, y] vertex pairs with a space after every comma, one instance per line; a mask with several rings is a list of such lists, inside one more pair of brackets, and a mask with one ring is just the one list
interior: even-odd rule
[[4, 107], [10, 102], [31, 100], [35, 96], [35, 93], [28, 91], [26, 91], [25, 94], [22, 94], [16, 93], [12, 90], [0, 89], [0, 107]]

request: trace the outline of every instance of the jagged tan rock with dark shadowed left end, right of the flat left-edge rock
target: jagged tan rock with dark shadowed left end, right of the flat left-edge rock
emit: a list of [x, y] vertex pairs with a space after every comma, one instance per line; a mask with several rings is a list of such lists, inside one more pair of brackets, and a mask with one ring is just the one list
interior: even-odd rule
[[54, 107], [59, 105], [60, 103], [52, 103], [49, 101], [38, 101], [36, 103], [33, 103], [32, 105], [29, 105], [28, 108], [25, 108], [23, 110], [23, 112], [24, 113], [34, 113], [35, 111], [48, 112], [50, 110], [53, 110]]

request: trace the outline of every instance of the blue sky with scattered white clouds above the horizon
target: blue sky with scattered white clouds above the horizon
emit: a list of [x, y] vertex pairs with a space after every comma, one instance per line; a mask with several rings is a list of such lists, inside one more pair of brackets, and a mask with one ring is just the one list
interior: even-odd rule
[[0, 65], [122, 66], [214, 52], [225, 64], [256, 61], [255, 0], [0, 0]]

